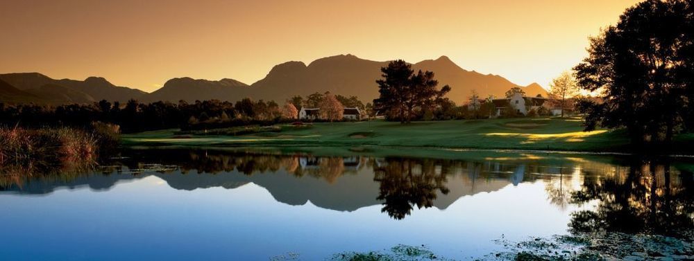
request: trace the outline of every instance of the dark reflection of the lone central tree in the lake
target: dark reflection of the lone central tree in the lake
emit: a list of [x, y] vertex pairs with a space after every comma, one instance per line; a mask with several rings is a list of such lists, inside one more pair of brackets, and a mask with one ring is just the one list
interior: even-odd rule
[[382, 212], [395, 219], [403, 219], [418, 208], [434, 206], [437, 190], [448, 194], [446, 167], [434, 159], [386, 159], [384, 166], [374, 165], [374, 180], [380, 183], [378, 200], [384, 200]]

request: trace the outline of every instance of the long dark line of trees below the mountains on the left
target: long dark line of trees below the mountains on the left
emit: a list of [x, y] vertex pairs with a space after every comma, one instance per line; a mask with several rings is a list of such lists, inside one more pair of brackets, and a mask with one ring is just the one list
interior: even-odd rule
[[[325, 105], [327, 104], [327, 105]], [[128, 100], [125, 104], [101, 100], [90, 105], [6, 105], [0, 103], [0, 125], [23, 127], [78, 126], [90, 127], [93, 122], [120, 125], [122, 132], [154, 129], [210, 129], [242, 125], [273, 125], [298, 118], [298, 108], [330, 106], [331, 120], [341, 120], [342, 107], [366, 108], [355, 96], [334, 96], [314, 93], [294, 96], [284, 105], [273, 100], [237, 102], [203, 100], [196, 102], [151, 102]]]

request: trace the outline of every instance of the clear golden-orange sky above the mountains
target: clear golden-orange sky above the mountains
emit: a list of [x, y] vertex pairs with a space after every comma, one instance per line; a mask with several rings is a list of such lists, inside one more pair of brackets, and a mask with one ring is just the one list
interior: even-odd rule
[[[154, 91], [170, 78], [252, 84], [282, 62], [446, 55], [469, 71], [538, 82], [586, 56], [634, 0], [8, 0], [0, 73], [101, 76]], [[434, 72], [435, 73], [435, 72]]]

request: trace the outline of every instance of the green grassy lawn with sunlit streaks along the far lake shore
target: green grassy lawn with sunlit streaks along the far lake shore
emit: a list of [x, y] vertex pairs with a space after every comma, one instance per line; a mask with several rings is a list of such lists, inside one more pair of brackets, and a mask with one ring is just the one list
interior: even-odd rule
[[357, 123], [316, 123], [312, 127], [282, 126], [281, 132], [242, 136], [194, 134], [176, 136], [175, 129], [123, 135], [134, 146], [405, 146], [471, 149], [620, 151], [628, 139], [623, 131], [583, 132], [580, 118], [509, 118], [446, 120], [401, 125], [382, 120]]

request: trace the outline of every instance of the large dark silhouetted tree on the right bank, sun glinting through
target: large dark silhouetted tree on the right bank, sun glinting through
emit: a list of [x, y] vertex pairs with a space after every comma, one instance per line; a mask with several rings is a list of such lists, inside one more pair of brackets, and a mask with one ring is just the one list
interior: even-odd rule
[[625, 127], [640, 145], [691, 129], [693, 12], [692, 1], [643, 1], [591, 38], [589, 56], [574, 68], [580, 87], [600, 93], [579, 105], [586, 129]]

